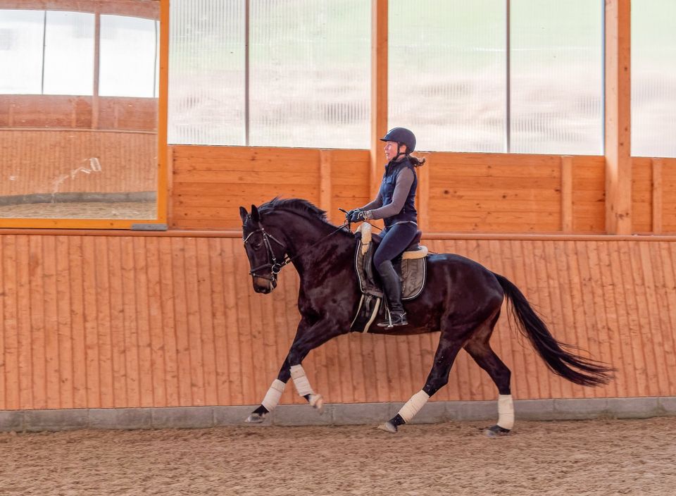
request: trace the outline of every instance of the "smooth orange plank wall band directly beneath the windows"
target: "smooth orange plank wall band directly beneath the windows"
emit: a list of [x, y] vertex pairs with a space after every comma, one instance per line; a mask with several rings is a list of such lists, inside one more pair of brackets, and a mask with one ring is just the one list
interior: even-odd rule
[[[425, 232], [604, 233], [603, 156], [423, 154]], [[237, 206], [302, 197], [339, 222], [369, 197], [368, 150], [170, 147], [170, 225], [228, 229]], [[633, 159], [635, 233], [676, 233], [676, 159]], [[657, 171], [657, 172], [655, 172]], [[653, 227], [654, 224], [654, 227]]]

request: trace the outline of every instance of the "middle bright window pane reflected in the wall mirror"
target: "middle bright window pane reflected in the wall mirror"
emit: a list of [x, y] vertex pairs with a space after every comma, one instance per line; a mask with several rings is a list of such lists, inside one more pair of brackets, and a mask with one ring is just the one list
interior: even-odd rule
[[94, 14], [47, 11], [44, 94], [94, 92]]

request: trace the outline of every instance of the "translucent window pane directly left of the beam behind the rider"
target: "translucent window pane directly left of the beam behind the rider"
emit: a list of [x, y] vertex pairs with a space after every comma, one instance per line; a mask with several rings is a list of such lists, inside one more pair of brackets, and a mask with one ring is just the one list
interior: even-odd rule
[[251, 0], [252, 145], [368, 148], [370, 0]]

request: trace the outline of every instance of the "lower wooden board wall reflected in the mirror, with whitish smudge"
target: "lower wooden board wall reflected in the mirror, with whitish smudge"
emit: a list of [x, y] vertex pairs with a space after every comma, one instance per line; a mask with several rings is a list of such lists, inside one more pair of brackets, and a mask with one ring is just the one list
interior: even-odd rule
[[0, 129], [0, 157], [0, 195], [157, 190], [154, 132]]

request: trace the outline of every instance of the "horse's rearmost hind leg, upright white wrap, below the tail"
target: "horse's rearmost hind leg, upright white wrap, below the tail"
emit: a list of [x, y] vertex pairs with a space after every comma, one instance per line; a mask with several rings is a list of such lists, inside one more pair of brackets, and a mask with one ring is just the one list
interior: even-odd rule
[[[497, 317], [495, 321], [497, 321]], [[507, 434], [514, 425], [514, 406], [510, 388], [511, 371], [495, 354], [488, 341], [493, 332], [495, 321], [487, 329], [487, 332], [477, 333], [472, 337], [472, 340], [465, 343], [465, 350], [484, 371], [487, 371], [498, 387], [498, 422], [485, 430], [485, 433], [489, 436]]]

